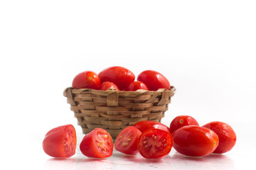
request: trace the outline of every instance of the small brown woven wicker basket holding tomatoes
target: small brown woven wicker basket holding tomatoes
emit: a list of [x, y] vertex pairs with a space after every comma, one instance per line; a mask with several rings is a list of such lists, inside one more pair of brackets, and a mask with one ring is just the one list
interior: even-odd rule
[[63, 95], [68, 98], [84, 134], [102, 128], [115, 139], [124, 128], [139, 121], [160, 122], [175, 91], [174, 86], [158, 91], [100, 91], [68, 87]]

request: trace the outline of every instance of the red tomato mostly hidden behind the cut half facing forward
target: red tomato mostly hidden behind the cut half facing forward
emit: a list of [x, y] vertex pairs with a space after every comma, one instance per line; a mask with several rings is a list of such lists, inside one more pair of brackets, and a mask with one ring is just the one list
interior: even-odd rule
[[143, 120], [138, 123], [135, 123], [133, 126], [136, 127], [141, 132], [144, 132], [145, 130], [148, 130], [151, 128], [161, 129], [166, 132], [171, 132], [170, 128], [168, 128], [168, 126], [164, 125], [163, 123], [159, 123], [159, 122], [152, 121], [152, 120]]

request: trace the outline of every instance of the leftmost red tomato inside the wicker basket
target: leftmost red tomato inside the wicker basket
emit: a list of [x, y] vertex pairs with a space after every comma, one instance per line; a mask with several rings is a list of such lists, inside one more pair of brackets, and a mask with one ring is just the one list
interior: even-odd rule
[[100, 78], [95, 72], [81, 72], [73, 79], [72, 86], [75, 89], [98, 89], [100, 86]]

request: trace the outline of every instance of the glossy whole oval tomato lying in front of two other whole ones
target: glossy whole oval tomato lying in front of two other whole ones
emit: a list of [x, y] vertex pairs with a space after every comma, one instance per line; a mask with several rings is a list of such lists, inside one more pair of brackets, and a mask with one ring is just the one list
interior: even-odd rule
[[187, 125], [174, 131], [174, 149], [190, 157], [203, 157], [218, 147], [218, 135], [213, 130]]

